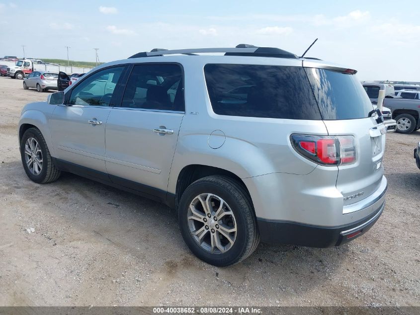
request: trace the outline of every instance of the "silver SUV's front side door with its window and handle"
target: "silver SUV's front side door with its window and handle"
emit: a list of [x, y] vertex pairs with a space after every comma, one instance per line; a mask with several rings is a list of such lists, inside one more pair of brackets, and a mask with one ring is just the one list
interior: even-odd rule
[[124, 66], [115, 66], [94, 72], [66, 93], [64, 105], [56, 106], [50, 125], [59, 162], [84, 167], [90, 177], [107, 178], [105, 123], [114, 104], [114, 90], [104, 94], [97, 85], [102, 84], [104, 76], [118, 82], [123, 70]]

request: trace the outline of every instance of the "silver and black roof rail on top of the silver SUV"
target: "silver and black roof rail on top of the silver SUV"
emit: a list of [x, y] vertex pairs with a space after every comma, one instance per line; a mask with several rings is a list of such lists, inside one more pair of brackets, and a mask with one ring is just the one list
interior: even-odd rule
[[225, 53], [225, 56], [256, 56], [256, 57], [277, 57], [277, 58], [298, 58], [295, 54], [273, 47], [256, 47], [248, 44], [239, 44], [235, 48], [193, 48], [166, 50], [162, 48], [152, 49], [150, 52], [139, 52], [129, 58], [156, 57], [164, 55], [195, 55], [197, 53]]

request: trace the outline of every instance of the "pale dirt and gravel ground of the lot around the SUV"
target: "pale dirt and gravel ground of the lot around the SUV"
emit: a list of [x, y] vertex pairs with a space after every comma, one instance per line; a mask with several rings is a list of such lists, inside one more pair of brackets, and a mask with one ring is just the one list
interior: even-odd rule
[[387, 205], [368, 233], [338, 248], [261, 244], [217, 268], [166, 206], [71, 174], [29, 181], [16, 126], [47, 95], [0, 78], [0, 306], [420, 306], [420, 131], [387, 135]]

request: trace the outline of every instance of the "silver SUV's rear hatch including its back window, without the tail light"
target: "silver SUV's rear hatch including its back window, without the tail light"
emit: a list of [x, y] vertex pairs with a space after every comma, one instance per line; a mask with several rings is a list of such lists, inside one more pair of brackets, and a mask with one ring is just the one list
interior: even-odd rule
[[355, 71], [311, 64], [303, 63], [328, 134], [354, 137], [355, 162], [336, 166], [336, 188], [349, 205], [369, 197], [381, 183], [386, 128], [376, 114], [368, 117], [373, 106]]

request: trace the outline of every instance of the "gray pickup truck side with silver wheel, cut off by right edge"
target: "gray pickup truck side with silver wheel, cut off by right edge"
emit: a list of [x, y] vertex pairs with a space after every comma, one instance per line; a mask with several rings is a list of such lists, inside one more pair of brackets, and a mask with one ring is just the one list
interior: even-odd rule
[[420, 129], [420, 100], [386, 97], [384, 106], [391, 109], [392, 118], [397, 121], [396, 132], [411, 133]]

